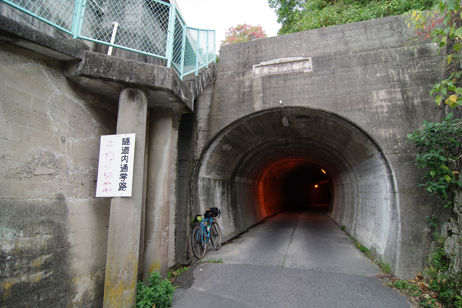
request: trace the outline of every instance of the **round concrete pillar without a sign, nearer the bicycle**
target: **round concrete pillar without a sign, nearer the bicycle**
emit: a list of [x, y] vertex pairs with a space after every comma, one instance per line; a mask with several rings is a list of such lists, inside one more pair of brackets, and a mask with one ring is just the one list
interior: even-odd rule
[[167, 277], [172, 112], [151, 109], [149, 122], [144, 280], [152, 270]]

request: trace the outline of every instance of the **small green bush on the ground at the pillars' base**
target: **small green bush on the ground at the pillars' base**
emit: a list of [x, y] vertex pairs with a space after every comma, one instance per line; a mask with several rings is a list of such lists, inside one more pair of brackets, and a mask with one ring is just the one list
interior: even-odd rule
[[172, 294], [176, 287], [170, 280], [162, 280], [162, 276], [156, 271], [152, 271], [147, 279], [149, 285], [139, 281], [136, 290], [137, 308], [167, 308], [171, 307]]

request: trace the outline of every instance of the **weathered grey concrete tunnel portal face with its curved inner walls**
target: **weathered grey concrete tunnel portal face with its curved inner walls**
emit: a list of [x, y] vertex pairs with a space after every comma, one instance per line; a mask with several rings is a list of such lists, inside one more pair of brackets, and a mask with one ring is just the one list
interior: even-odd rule
[[[405, 47], [410, 35], [396, 16], [223, 46], [214, 83], [197, 99], [194, 197], [183, 217], [218, 206], [228, 239], [292, 206], [281, 187], [304, 168], [329, 182], [339, 225], [397, 275], [418, 273], [433, 200], [416, 185], [420, 171], [407, 164], [415, 150], [405, 141], [438, 118], [428, 93], [444, 59], [427, 42]], [[281, 66], [254, 78], [254, 65], [293, 57], [311, 57], [312, 72]]]

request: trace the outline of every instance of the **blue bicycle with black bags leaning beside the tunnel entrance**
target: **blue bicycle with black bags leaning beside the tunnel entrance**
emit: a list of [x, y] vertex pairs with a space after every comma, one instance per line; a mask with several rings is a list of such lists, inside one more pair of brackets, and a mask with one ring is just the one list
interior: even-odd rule
[[[218, 216], [218, 217], [217, 217]], [[212, 245], [212, 249], [218, 250], [221, 248], [221, 230], [216, 218], [220, 218], [221, 212], [218, 207], [212, 207], [205, 210], [204, 219], [201, 214], [197, 214], [193, 218], [193, 222], [200, 222], [193, 229], [191, 234], [191, 247], [193, 254], [197, 259], [202, 259], [205, 256], [207, 247]]]

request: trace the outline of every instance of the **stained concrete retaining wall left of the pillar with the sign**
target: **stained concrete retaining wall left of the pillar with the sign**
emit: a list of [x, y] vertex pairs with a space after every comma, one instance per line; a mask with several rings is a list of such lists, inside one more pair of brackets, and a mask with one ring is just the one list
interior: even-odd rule
[[113, 105], [61, 64], [0, 44], [1, 307], [97, 307], [109, 198], [95, 198], [99, 136]]

